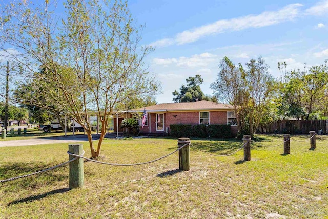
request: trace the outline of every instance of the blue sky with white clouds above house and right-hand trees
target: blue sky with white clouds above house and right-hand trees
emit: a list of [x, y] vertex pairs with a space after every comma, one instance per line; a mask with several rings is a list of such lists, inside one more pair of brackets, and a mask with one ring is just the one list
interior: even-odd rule
[[200, 74], [201, 88], [212, 94], [224, 56], [246, 63], [260, 55], [279, 77], [277, 63], [288, 69], [323, 64], [328, 58], [328, 1], [186, 1], [130, 0], [138, 24], [146, 24], [142, 44], [156, 50], [146, 66], [162, 82], [158, 103], [186, 78]]

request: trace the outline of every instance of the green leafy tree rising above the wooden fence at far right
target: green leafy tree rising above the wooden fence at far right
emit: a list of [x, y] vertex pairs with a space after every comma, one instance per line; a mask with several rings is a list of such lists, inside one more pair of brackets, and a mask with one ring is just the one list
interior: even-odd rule
[[284, 71], [281, 79], [281, 106], [279, 113], [287, 117], [309, 120], [317, 118], [319, 112], [324, 115], [322, 105], [325, 102], [325, 92], [328, 89], [327, 62], [318, 66], [304, 66], [286, 72], [286, 63], [279, 63], [278, 68]]

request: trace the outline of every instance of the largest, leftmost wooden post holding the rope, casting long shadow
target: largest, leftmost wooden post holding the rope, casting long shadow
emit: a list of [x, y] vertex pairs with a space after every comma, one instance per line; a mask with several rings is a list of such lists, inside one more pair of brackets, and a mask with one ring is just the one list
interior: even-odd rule
[[[75, 144], [68, 145], [68, 151], [81, 155], [83, 154], [83, 145]], [[69, 155], [69, 160], [72, 160], [75, 156]], [[83, 188], [84, 186], [84, 169], [83, 169], [83, 159], [78, 158], [75, 161], [70, 162], [70, 189]]]

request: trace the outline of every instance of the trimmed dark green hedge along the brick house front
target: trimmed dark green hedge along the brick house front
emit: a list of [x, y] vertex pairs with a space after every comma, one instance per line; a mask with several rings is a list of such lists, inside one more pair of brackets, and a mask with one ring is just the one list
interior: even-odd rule
[[184, 125], [171, 124], [170, 135], [173, 137], [232, 138], [230, 125]]

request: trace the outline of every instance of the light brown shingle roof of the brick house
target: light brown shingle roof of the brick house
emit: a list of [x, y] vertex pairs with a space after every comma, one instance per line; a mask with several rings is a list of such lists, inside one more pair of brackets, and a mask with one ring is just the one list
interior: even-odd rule
[[[185, 103], [167, 103], [157, 104], [146, 107], [149, 112], [168, 112], [168, 111], [192, 111], [192, 110], [229, 110], [233, 109], [232, 105], [214, 103], [212, 101], [197, 101]], [[143, 112], [144, 108], [128, 110], [128, 112]]]

